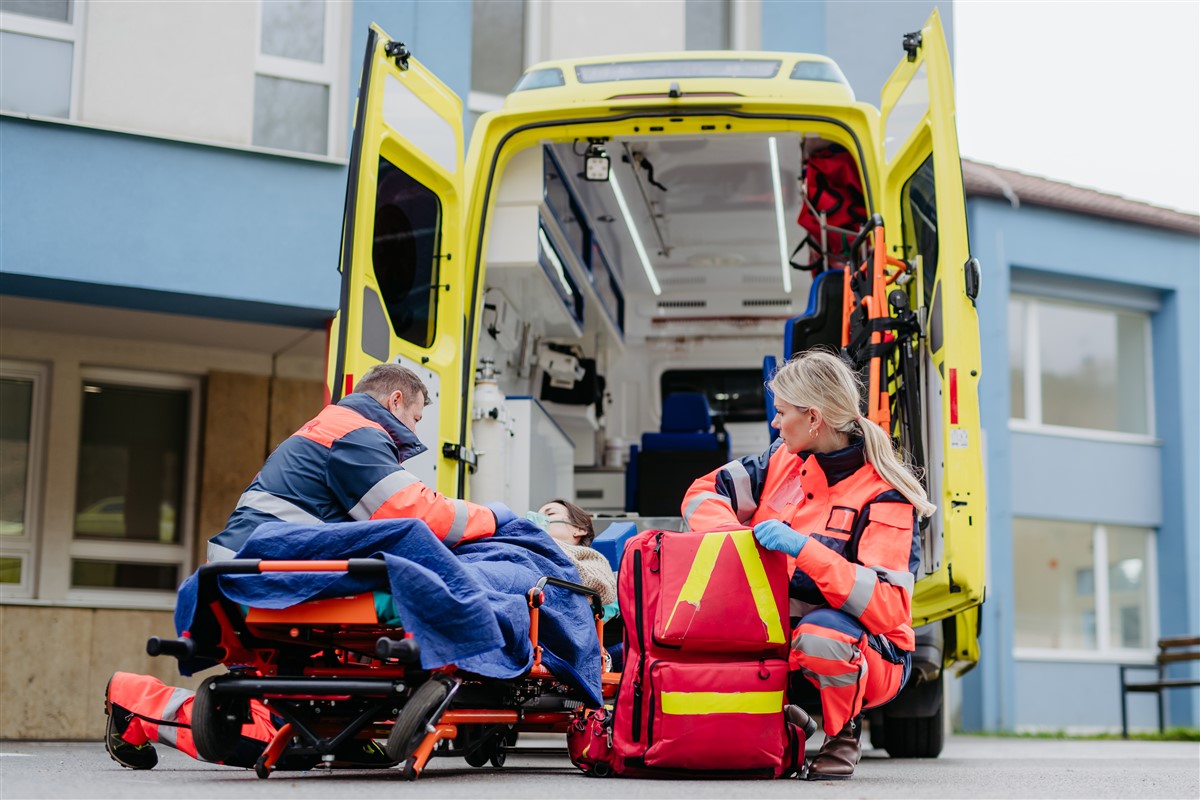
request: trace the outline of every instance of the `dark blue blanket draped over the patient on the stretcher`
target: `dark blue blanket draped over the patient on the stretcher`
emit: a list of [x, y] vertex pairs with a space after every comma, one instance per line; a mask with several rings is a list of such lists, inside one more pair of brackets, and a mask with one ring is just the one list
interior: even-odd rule
[[[224, 575], [222, 594], [256, 608], [287, 608], [306, 600], [391, 590], [404, 630], [421, 645], [421, 667], [455, 664], [488, 678], [516, 678], [533, 664], [526, 593], [544, 576], [580, 582], [560, 547], [524, 519], [494, 536], [448, 549], [419, 519], [382, 519], [329, 525], [268, 523], [238, 552], [245, 559], [383, 558], [383, 578], [343, 572], [272, 572]], [[175, 628], [190, 631], [197, 644], [217, 642], [216, 621], [197, 606], [197, 576], [179, 589]], [[546, 587], [538, 639], [542, 661], [560, 680], [581, 690], [599, 706], [600, 643], [584, 595]], [[180, 672], [215, 666], [180, 662]]]

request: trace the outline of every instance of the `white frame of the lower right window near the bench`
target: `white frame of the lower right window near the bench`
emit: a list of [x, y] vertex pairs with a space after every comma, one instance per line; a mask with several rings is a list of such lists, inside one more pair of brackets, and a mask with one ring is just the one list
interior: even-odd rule
[[[1036, 519], [1039, 517], [1014, 517], [1014, 519]], [[1057, 649], [1057, 648], [1022, 648], [1016, 645], [1016, 615], [1013, 616], [1013, 657], [1019, 661], [1073, 661], [1091, 663], [1154, 663], [1158, 650], [1154, 642], [1159, 636], [1159, 608], [1158, 608], [1158, 529], [1134, 525], [1146, 530], [1146, 619], [1150, 633], [1146, 637], [1145, 648], [1115, 648], [1111, 644], [1111, 619], [1109, 606], [1109, 533], [1108, 525], [1100, 522], [1074, 521], [1092, 525], [1092, 595], [1096, 601], [1096, 649]], [[1016, 553], [1013, 553], [1014, 561]], [[1103, 602], [1102, 602], [1103, 601]]]

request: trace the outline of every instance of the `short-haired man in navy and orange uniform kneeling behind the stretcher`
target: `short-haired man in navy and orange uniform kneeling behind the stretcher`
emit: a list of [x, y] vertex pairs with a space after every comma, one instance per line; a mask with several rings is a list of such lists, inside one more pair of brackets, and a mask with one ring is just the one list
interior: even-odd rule
[[[276, 447], [238, 499], [224, 530], [209, 540], [209, 560], [233, 558], [265, 522], [419, 518], [448, 547], [486, 539], [512, 522], [516, 517], [504, 504], [448, 498], [401, 465], [426, 450], [414, 431], [428, 404], [428, 390], [412, 369], [372, 367], [352, 395], [326, 405]], [[192, 694], [150, 675], [114, 674], [104, 692], [108, 754], [121, 766], [151, 769], [158, 763], [154, 742], [162, 742], [199, 758], [192, 742]], [[230, 765], [253, 766], [275, 735], [264, 706], [252, 703], [251, 717]], [[378, 746], [372, 751], [370, 740], [350, 744], [366, 751], [340, 753], [344, 760], [386, 758]]]

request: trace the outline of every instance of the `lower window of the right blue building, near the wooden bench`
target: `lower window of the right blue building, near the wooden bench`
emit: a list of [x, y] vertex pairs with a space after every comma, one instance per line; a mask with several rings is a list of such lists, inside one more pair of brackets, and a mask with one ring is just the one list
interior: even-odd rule
[[1013, 519], [1018, 649], [1112, 654], [1156, 639], [1154, 531]]

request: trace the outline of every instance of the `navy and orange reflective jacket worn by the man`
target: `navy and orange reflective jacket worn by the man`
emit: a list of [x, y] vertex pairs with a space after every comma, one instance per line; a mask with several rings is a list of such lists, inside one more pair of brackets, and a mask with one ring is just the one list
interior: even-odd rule
[[370, 395], [347, 395], [288, 437], [238, 500], [209, 560], [233, 554], [264, 522], [320, 524], [353, 519], [421, 519], [452, 547], [496, 533], [496, 515], [454, 500], [401, 467], [425, 452], [412, 431]]

